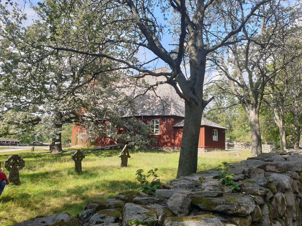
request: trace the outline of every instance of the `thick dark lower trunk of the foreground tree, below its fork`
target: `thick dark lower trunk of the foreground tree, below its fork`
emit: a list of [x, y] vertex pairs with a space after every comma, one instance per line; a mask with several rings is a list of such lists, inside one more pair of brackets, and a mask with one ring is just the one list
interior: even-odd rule
[[185, 121], [177, 178], [197, 171], [198, 140], [203, 110], [202, 104], [196, 105], [185, 102]]

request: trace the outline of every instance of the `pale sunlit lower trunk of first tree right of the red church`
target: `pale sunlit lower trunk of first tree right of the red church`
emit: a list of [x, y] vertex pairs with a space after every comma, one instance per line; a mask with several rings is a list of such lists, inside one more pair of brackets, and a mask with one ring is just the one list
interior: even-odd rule
[[252, 157], [256, 157], [262, 153], [261, 133], [259, 125], [259, 111], [253, 107], [244, 107], [249, 118], [249, 126], [252, 135]]

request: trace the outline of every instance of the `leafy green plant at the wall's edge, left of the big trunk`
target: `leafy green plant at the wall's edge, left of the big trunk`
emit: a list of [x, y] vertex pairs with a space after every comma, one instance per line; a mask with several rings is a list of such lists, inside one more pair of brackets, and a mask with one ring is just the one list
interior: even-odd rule
[[[157, 179], [158, 175], [156, 174], [156, 171], [158, 171], [158, 168], [149, 170], [148, 174], [143, 174], [144, 170], [142, 169], [136, 171], [136, 179], [141, 184], [140, 190], [146, 194], [155, 195], [156, 189], [160, 186], [160, 180]], [[153, 176], [153, 180], [149, 183], [148, 178], [150, 176]]]

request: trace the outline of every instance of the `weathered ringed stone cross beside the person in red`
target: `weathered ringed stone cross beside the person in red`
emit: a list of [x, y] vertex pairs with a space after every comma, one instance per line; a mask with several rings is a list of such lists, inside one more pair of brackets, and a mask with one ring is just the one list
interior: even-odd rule
[[8, 180], [10, 183], [19, 185], [19, 171], [25, 166], [24, 160], [20, 155], [12, 155], [4, 162], [4, 167], [8, 170]]

